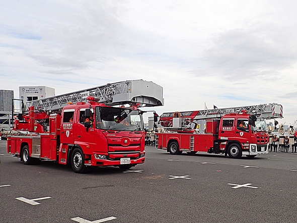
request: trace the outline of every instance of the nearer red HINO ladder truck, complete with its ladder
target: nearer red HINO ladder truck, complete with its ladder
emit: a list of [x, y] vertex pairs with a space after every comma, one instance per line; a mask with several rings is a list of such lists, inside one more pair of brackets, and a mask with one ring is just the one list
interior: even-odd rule
[[15, 119], [8, 153], [24, 164], [69, 163], [76, 173], [86, 166], [129, 169], [145, 161], [144, 112], [138, 107], [163, 104], [163, 88], [143, 80], [30, 101]]

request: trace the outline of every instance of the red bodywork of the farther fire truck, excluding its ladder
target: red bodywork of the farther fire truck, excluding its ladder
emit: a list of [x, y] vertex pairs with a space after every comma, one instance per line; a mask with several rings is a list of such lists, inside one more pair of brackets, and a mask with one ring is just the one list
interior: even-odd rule
[[[163, 117], [163, 120], [165, 119], [170, 122], [170, 117]], [[249, 115], [246, 113], [228, 114], [220, 119], [207, 119], [203, 134], [181, 130], [177, 130], [178, 133], [157, 133], [156, 146], [169, 151], [170, 143], [175, 141], [180, 151], [227, 154], [229, 145], [232, 146], [235, 143], [245, 155], [268, 153], [268, 133], [254, 132], [250, 125], [246, 128], [240, 127], [240, 120], [248, 122]], [[230, 125], [227, 125], [228, 123]]]

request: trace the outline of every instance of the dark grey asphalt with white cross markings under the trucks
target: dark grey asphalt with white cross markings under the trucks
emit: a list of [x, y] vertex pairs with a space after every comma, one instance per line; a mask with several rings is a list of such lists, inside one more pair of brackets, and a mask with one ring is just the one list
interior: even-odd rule
[[0, 141], [0, 222], [297, 222], [297, 154], [171, 155], [129, 171], [24, 165]]

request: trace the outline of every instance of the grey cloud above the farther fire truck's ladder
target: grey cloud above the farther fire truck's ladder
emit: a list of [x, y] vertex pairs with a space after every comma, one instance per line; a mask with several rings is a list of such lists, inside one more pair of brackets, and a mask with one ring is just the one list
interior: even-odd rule
[[[205, 50], [198, 76], [220, 74], [232, 80], [277, 77], [297, 61], [295, 33], [273, 24], [218, 33], [213, 46]], [[294, 31], [291, 31], [294, 32]]]

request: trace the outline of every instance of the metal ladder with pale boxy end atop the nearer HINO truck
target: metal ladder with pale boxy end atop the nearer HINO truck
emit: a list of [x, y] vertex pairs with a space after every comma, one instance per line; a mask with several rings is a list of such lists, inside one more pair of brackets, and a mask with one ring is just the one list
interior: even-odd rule
[[140, 103], [140, 106], [164, 105], [163, 87], [152, 81], [130, 80], [29, 101], [26, 103], [25, 110], [30, 106], [44, 111], [59, 110], [69, 102], [87, 101], [88, 96], [98, 97], [99, 102], [106, 105], [136, 103]]

